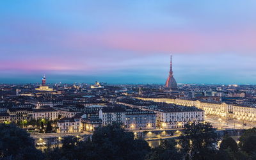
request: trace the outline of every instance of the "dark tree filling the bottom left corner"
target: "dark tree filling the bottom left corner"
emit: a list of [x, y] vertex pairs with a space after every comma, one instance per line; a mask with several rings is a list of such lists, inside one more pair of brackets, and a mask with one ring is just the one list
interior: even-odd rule
[[0, 124], [0, 154], [6, 159], [43, 159], [33, 138], [14, 124]]

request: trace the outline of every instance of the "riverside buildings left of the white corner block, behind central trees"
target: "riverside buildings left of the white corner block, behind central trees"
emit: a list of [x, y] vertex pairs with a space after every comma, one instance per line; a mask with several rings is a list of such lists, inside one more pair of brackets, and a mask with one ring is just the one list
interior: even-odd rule
[[[96, 127], [113, 123], [128, 130], [156, 129], [156, 113], [125, 106], [104, 106], [98, 111], [86, 111], [57, 122], [58, 132], [93, 132]], [[77, 127], [79, 126], [79, 127]]]

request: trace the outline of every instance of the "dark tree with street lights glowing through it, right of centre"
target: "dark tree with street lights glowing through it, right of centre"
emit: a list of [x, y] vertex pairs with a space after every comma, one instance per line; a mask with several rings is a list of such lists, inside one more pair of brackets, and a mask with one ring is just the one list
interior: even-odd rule
[[185, 130], [179, 138], [179, 145], [186, 159], [209, 159], [216, 152], [219, 140], [212, 125], [186, 124]]

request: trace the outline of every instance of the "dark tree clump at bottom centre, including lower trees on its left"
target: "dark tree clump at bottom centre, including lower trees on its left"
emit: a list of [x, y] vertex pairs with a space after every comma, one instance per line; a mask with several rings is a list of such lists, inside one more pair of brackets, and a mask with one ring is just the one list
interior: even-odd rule
[[134, 140], [132, 132], [125, 132], [118, 124], [99, 127], [92, 140], [78, 141], [64, 138], [63, 147], [47, 149], [46, 159], [144, 159], [150, 151], [145, 140]]

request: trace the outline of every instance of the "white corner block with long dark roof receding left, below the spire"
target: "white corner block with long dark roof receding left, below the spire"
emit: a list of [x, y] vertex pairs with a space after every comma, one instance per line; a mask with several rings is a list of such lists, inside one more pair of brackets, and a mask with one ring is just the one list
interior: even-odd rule
[[181, 106], [163, 102], [147, 102], [137, 99], [121, 99], [118, 104], [156, 113], [156, 127], [161, 129], [183, 128], [189, 122], [204, 122], [205, 112], [193, 106]]

